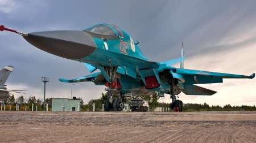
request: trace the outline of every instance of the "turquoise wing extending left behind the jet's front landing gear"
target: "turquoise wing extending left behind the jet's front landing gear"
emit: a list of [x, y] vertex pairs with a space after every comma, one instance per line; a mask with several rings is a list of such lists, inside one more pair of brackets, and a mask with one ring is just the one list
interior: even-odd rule
[[97, 73], [93, 73], [92, 75], [88, 75], [88, 76], [83, 76], [83, 77], [79, 77], [77, 79], [72, 79], [72, 80], [68, 80], [68, 79], [59, 79], [61, 82], [63, 83], [79, 83], [79, 82], [86, 82], [86, 81], [93, 81], [96, 79], [96, 77], [100, 74], [101, 72], [97, 72]]

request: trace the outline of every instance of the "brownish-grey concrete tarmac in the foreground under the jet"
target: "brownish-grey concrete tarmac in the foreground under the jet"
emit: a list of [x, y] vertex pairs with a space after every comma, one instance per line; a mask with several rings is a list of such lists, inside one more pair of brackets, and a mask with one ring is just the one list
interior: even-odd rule
[[0, 111], [0, 142], [256, 142], [256, 111]]

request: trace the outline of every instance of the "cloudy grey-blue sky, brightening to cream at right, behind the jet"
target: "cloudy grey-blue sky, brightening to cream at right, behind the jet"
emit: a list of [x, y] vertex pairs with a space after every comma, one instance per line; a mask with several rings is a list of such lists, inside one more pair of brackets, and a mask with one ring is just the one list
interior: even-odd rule
[[[33, 1], [0, 0], [0, 25], [20, 32], [82, 30], [98, 23], [114, 24], [138, 40], [143, 54], [163, 62], [180, 57], [184, 67], [251, 75], [256, 72], [256, 1]], [[8, 89], [27, 89], [19, 96], [43, 98], [41, 77], [49, 77], [46, 98], [100, 98], [104, 86], [61, 83], [89, 74], [84, 64], [56, 57], [30, 45], [22, 36], [0, 32], [0, 67], [14, 66]], [[175, 64], [179, 67], [179, 64]], [[204, 84], [213, 96], [186, 96], [183, 103], [255, 105], [256, 80], [224, 79]], [[105, 93], [105, 92], [104, 92]], [[171, 102], [170, 96], [161, 102]]]

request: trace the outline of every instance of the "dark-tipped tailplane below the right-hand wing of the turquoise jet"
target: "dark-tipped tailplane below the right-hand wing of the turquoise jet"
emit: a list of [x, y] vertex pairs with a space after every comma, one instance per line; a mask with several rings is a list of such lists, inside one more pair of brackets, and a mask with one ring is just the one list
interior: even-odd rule
[[196, 95], [196, 96], [212, 96], [213, 94], [217, 93], [213, 90], [202, 88], [196, 85], [184, 85], [183, 90], [181, 92], [185, 93], [186, 95]]

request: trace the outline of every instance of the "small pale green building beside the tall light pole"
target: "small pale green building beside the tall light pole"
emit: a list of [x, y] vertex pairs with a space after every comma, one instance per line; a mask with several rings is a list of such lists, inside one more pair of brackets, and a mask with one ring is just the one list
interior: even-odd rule
[[52, 98], [52, 111], [80, 111], [80, 98]]

